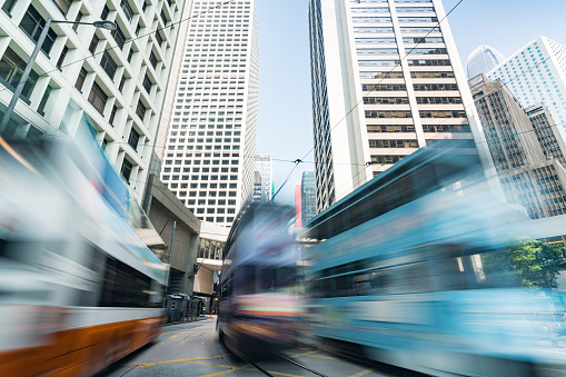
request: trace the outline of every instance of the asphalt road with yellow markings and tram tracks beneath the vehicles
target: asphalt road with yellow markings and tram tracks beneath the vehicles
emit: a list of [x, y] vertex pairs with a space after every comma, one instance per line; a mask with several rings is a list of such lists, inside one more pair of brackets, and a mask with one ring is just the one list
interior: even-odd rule
[[[357, 365], [316, 349], [289, 350], [287, 356], [326, 376], [391, 376], [367, 365]], [[315, 376], [285, 360], [262, 361], [259, 366], [274, 376]], [[112, 365], [100, 377], [182, 377], [182, 376], [264, 376], [238, 359], [218, 340], [216, 319], [167, 326], [152, 344]], [[397, 376], [399, 374], [396, 374]], [[401, 374], [403, 375], [403, 374]]]

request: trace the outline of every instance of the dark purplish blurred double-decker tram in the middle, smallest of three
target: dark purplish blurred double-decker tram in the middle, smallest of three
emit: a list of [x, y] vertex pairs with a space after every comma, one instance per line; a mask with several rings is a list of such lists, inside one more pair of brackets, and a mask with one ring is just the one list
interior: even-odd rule
[[224, 249], [218, 330], [242, 358], [270, 357], [297, 330], [295, 210], [275, 204], [244, 207]]

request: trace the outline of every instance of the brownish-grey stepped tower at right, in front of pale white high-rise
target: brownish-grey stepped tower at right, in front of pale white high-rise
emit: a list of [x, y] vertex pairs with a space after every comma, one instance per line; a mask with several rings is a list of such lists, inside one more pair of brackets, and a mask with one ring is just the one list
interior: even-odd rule
[[534, 218], [566, 214], [566, 146], [543, 105], [524, 110], [500, 80], [470, 80], [489, 151], [508, 202]]

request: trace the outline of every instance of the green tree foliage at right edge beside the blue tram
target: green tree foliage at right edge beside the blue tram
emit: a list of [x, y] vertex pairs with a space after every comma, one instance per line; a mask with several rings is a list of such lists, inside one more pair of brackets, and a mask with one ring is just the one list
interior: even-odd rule
[[556, 276], [566, 268], [566, 249], [514, 236], [507, 249], [483, 256], [481, 264], [497, 286], [556, 288]]

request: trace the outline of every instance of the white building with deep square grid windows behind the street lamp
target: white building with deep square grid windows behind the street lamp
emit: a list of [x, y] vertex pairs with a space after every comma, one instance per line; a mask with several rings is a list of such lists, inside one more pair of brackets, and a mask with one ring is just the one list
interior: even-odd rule
[[0, 115], [48, 18], [117, 23], [115, 31], [52, 23], [3, 137], [72, 139], [87, 123], [141, 201], [185, 0], [0, 0]]

